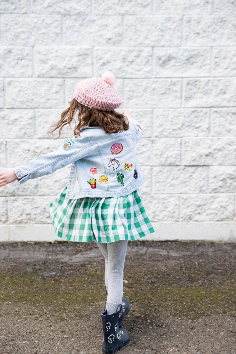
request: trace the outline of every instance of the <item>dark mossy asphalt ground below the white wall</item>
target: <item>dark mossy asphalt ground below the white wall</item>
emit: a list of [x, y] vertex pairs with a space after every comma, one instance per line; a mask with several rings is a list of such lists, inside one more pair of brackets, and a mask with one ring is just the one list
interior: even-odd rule
[[[235, 255], [235, 244], [129, 242], [118, 353], [236, 353]], [[96, 244], [1, 244], [0, 259], [1, 354], [101, 353]]]

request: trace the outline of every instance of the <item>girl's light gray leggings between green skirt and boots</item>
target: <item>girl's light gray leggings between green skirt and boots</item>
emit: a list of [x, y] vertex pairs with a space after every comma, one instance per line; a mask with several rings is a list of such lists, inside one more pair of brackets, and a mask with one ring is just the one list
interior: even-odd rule
[[123, 268], [128, 241], [96, 242], [105, 258], [105, 285], [107, 287], [107, 314], [115, 312], [123, 297]]

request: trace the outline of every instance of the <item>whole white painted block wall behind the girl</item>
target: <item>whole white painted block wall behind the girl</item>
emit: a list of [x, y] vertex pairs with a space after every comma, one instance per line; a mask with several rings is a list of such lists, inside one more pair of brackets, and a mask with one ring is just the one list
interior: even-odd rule
[[[231, 0], [1, 0], [0, 168], [47, 136], [77, 81], [110, 70], [144, 126], [149, 239], [236, 240], [236, 4]], [[50, 200], [69, 166], [0, 188], [0, 240], [55, 240]]]

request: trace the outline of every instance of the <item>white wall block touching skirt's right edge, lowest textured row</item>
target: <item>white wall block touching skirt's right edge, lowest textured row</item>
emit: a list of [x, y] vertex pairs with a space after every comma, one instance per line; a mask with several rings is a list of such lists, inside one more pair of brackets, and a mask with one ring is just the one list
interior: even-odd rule
[[178, 221], [179, 196], [143, 195], [143, 199], [151, 222]]

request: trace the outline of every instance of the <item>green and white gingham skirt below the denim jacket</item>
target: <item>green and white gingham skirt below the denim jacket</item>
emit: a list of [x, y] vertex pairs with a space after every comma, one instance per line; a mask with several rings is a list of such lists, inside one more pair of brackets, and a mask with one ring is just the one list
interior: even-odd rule
[[64, 240], [133, 241], [154, 232], [138, 189], [121, 197], [79, 199], [65, 199], [66, 191], [50, 204], [53, 228]]

